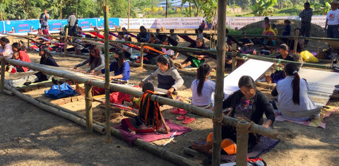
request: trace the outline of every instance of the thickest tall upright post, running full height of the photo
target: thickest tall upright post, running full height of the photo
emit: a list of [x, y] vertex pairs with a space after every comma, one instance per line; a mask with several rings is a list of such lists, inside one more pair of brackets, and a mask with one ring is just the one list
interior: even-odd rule
[[[215, 109], [213, 117], [215, 119], [222, 119], [222, 98], [224, 93], [224, 72], [225, 72], [225, 54], [226, 54], [226, 4], [227, 1], [218, 0], [218, 45], [217, 45], [217, 79], [215, 81]], [[222, 125], [219, 122], [213, 123], [213, 155], [212, 165], [220, 165], [220, 151], [221, 151], [221, 128]]]

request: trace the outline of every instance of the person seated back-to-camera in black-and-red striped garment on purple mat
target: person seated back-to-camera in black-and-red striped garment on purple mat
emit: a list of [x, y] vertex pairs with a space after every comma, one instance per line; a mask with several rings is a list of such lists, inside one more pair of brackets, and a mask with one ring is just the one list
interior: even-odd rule
[[[169, 133], [164, 117], [160, 112], [159, 103], [150, 100], [154, 95], [152, 83], [143, 85], [143, 95], [141, 96], [138, 116], [121, 120], [121, 125], [131, 131], [131, 134], [150, 133], [157, 131], [162, 134]], [[163, 125], [163, 128], [160, 128]]]

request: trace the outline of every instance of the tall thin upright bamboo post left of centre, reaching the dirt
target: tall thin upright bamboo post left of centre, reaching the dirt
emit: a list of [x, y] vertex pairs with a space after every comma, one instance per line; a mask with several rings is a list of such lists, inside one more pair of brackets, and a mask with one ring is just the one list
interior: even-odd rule
[[110, 109], [110, 100], [109, 100], [109, 24], [108, 24], [108, 6], [105, 6], [104, 11], [105, 19], [105, 95], [106, 95], [106, 142], [111, 143], [111, 109]]

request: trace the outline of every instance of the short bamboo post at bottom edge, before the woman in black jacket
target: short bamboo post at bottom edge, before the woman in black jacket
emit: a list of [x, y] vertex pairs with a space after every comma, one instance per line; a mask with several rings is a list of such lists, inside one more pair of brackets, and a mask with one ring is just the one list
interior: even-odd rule
[[237, 123], [237, 166], [247, 165], [247, 148], [249, 142], [249, 122]]

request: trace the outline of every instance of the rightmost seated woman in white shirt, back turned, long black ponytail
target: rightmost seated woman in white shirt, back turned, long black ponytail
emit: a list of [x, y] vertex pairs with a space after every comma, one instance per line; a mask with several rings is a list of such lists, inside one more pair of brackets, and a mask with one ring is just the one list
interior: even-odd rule
[[318, 118], [321, 108], [317, 108], [309, 97], [307, 82], [300, 79], [298, 70], [296, 64], [287, 63], [284, 69], [286, 78], [278, 81], [271, 94], [278, 95], [276, 106], [286, 119], [307, 121]]

